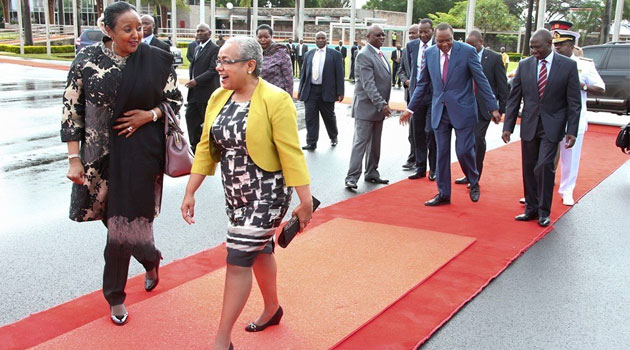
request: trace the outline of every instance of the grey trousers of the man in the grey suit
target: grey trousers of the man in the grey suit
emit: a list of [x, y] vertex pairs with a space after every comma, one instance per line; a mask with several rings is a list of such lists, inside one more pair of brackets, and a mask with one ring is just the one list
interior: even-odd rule
[[365, 156], [365, 178], [379, 178], [378, 162], [381, 157], [383, 121], [354, 119], [354, 139], [346, 181], [357, 181], [361, 176]]

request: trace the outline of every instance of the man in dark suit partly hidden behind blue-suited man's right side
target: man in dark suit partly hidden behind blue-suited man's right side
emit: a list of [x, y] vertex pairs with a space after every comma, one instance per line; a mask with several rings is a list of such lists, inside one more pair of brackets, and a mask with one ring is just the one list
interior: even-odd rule
[[[492, 88], [494, 96], [499, 100], [499, 113], [505, 114], [505, 101], [509, 93], [507, 86], [507, 76], [505, 74], [505, 66], [503, 65], [503, 58], [499, 53], [496, 53], [489, 48], [483, 47], [483, 36], [478, 30], [473, 30], [468, 33], [466, 43], [475, 49], [477, 49], [477, 55], [481, 61], [481, 68], [483, 68], [483, 74], [488, 78], [488, 83]], [[483, 99], [477, 96], [477, 108], [479, 120], [475, 126], [475, 156], [477, 157], [477, 170], [479, 171], [479, 178], [483, 170], [483, 159], [486, 156], [486, 132], [490, 125], [492, 115], [483, 103]], [[468, 179], [466, 176], [455, 180], [456, 184], [467, 184]]]

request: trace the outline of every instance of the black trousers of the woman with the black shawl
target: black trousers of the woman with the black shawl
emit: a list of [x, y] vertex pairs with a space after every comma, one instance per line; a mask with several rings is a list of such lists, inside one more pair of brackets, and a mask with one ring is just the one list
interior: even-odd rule
[[103, 271], [103, 295], [110, 306], [125, 302], [125, 286], [129, 275], [129, 261], [133, 256], [145, 268], [151, 271], [159, 259], [153, 240], [150, 242], [114, 242], [107, 237], [105, 245], [105, 269]]

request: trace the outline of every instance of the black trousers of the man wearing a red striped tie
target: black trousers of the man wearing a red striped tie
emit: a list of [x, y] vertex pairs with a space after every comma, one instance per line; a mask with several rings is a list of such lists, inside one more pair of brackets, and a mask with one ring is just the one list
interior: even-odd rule
[[523, 158], [523, 189], [525, 212], [541, 217], [551, 213], [553, 185], [556, 176], [554, 160], [558, 143], [547, 139], [540, 119], [536, 136], [531, 141], [521, 140]]

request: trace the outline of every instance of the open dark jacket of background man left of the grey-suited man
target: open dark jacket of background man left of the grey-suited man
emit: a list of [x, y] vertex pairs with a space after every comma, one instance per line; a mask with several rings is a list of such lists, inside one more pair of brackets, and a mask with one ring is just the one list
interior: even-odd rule
[[[304, 57], [304, 64], [300, 72], [300, 101], [306, 101], [311, 91], [311, 77], [313, 73], [313, 56], [317, 50], [311, 50]], [[335, 102], [344, 94], [343, 58], [341, 53], [326, 48], [326, 60], [322, 70], [322, 99], [325, 102]]]

